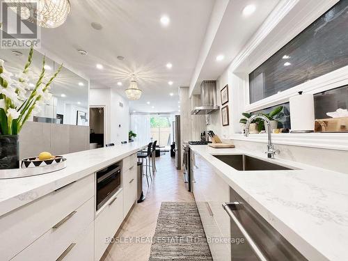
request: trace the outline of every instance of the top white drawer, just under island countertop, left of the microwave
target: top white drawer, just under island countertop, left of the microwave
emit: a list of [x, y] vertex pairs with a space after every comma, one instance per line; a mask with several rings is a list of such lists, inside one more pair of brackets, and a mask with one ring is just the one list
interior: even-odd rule
[[[0, 253], [13, 258], [94, 196], [94, 175], [68, 184], [0, 217]], [[35, 195], [28, 195], [35, 196]]]

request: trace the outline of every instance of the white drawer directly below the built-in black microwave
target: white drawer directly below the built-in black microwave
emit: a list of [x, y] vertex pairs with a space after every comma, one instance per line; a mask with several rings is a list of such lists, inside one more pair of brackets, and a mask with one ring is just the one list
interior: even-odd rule
[[123, 190], [106, 204], [95, 218], [95, 260], [100, 260], [123, 221]]

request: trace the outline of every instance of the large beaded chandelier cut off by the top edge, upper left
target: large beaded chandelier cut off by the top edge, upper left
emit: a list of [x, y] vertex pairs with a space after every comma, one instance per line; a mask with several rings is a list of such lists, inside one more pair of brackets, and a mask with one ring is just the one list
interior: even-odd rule
[[5, 1], [22, 19], [46, 28], [61, 26], [70, 13], [69, 0]]

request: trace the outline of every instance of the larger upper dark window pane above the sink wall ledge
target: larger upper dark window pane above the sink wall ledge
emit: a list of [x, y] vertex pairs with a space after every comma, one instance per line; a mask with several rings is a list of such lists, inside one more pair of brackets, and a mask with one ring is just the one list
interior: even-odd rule
[[348, 0], [341, 0], [249, 74], [257, 102], [348, 65]]

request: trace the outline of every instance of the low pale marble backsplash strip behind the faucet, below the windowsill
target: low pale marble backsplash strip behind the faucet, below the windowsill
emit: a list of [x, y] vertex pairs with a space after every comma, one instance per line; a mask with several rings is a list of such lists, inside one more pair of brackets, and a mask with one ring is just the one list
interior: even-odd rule
[[[223, 140], [223, 142], [232, 143], [240, 150], [250, 150], [261, 153], [267, 150], [266, 143], [237, 140]], [[309, 148], [293, 145], [276, 144], [275, 146], [277, 150], [280, 150], [280, 154], [276, 155], [277, 158], [301, 162], [303, 164], [348, 174], [348, 151], [326, 150], [321, 148]]]

